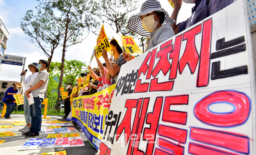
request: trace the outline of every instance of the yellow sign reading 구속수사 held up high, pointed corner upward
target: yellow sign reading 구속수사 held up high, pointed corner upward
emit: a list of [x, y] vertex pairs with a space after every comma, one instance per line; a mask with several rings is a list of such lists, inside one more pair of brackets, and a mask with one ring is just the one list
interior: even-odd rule
[[102, 25], [100, 29], [100, 34], [97, 38], [97, 49], [96, 49], [97, 58], [101, 57], [102, 48], [104, 48], [106, 51], [109, 51], [110, 49], [112, 49], [109, 43], [109, 39], [107, 38], [107, 35], [104, 30], [104, 24]]

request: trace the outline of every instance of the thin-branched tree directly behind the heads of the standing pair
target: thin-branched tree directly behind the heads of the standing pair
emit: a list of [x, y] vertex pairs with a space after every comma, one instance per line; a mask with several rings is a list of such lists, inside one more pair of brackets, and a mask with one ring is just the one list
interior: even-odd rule
[[23, 32], [29, 36], [28, 41], [41, 48], [48, 57], [47, 71], [49, 72], [53, 52], [60, 44], [64, 34], [63, 27], [52, 19], [52, 16], [43, 9], [41, 4], [36, 7], [36, 14], [32, 10], [26, 12], [20, 25]]

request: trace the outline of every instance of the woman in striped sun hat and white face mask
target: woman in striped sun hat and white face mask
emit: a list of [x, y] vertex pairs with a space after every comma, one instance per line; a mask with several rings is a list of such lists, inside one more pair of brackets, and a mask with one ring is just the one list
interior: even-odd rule
[[[131, 32], [138, 33], [141, 36], [150, 37], [146, 41], [148, 45], [144, 52], [175, 35], [171, 26], [175, 24], [181, 8], [181, 2], [181, 0], [175, 0], [171, 17], [161, 8], [157, 0], [147, 0], [142, 4], [141, 12], [130, 17], [127, 28]], [[130, 54], [128, 55], [130, 56]], [[125, 60], [129, 61], [130, 59]]]

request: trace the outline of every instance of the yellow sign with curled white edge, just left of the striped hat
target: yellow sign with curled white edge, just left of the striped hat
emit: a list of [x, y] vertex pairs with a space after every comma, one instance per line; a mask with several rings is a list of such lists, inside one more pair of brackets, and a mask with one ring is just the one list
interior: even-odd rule
[[139, 46], [133, 40], [131, 36], [122, 36], [117, 33], [113, 34], [113, 37], [117, 41], [118, 45], [123, 49], [124, 52], [131, 54], [143, 53]]

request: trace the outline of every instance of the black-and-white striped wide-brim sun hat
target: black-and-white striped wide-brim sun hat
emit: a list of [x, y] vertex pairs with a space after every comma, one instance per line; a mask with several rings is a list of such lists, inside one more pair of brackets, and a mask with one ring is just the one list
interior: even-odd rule
[[145, 30], [142, 26], [141, 16], [147, 13], [152, 13], [153, 11], [164, 12], [165, 20], [163, 24], [171, 25], [175, 22], [169, 17], [169, 14], [161, 7], [160, 2], [157, 0], [147, 0], [141, 6], [141, 11], [134, 14], [129, 18], [127, 28], [134, 33], [138, 33], [141, 36], [149, 37], [151, 32]]

